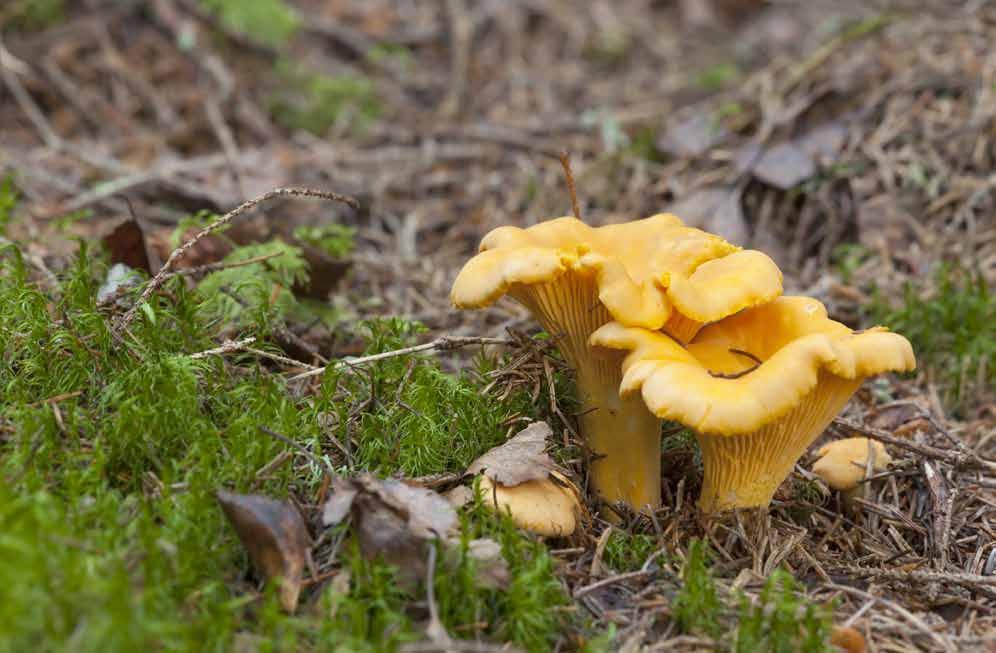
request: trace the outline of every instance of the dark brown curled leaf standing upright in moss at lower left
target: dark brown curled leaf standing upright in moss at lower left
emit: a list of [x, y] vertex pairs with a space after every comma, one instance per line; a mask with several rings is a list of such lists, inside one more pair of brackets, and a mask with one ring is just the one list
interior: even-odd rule
[[311, 546], [297, 508], [254, 494], [219, 490], [215, 496], [257, 572], [266, 580], [280, 579], [280, 605], [294, 612]]

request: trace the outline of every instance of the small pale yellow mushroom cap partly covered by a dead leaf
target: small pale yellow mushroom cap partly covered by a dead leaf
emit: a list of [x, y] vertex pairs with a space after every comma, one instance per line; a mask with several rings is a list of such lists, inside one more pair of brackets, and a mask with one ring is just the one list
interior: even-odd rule
[[564, 537], [577, 527], [581, 504], [570, 481], [556, 472], [557, 481], [535, 479], [506, 486], [481, 475], [480, 492], [485, 503], [528, 531], [546, 537]]

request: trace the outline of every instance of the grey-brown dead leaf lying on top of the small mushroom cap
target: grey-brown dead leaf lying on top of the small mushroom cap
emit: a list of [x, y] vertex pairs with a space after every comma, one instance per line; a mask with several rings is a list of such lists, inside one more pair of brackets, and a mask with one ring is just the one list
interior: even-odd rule
[[533, 422], [505, 444], [491, 449], [467, 468], [467, 474], [485, 473], [504, 486], [542, 480], [556, 465], [546, 453], [553, 431], [546, 422]]

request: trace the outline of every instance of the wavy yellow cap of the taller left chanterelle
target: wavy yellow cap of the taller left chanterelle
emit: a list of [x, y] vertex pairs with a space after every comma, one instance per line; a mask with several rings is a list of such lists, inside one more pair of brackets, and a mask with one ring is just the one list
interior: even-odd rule
[[460, 308], [491, 304], [514, 287], [574, 272], [593, 277], [599, 300], [628, 326], [659, 329], [674, 309], [711, 322], [782, 292], [775, 263], [670, 214], [604, 227], [556, 218], [527, 229], [499, 227], [464, 266], [451, 299]]

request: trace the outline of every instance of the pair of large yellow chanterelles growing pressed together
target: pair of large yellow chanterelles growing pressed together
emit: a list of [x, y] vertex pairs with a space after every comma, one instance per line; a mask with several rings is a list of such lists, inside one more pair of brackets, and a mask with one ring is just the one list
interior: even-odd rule
[[662, 420], [696, 434], [703, 511], [762, 507], [866, 377], [916, 365], [902, 336], [853, 331], [819, 301], [783, 296], [767, 255], [670, 214], [499, 227], [452, 301], [505, 295], [576, 373], [591, 489], [635, 511], [660, 506]]

